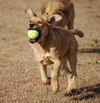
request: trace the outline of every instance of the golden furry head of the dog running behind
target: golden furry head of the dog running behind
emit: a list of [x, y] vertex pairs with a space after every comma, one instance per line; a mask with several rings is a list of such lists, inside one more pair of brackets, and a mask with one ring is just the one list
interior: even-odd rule
[[59, 25], [64, 18], [63, 9], [64, 5], [60, 2], [48, 2], [41, 8], [43, 19], [50, 24]]

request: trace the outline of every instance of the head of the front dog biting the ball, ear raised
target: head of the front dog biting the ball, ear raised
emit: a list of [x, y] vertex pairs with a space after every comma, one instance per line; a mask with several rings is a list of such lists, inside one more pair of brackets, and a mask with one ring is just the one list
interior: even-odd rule
[[28, 23], [28, 29], [38, 30], [41, 33], [41, 38], [45, 37], [49, 30], [46, 21], [38, 17], [31, 9], [26, 9], [25, 12], [29, 15], [30, 20]]

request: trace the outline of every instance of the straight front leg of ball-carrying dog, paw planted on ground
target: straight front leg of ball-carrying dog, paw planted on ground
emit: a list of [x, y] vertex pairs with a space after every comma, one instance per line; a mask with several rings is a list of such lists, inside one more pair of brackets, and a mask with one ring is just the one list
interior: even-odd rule
[[56, 93], [59, 89], [59, 81], [58, 81], [58, 76], [61, 68], [61, 61], [56, 60], [54, 62], [54, 68], [51, 72], [51, 86], [53, 91]]

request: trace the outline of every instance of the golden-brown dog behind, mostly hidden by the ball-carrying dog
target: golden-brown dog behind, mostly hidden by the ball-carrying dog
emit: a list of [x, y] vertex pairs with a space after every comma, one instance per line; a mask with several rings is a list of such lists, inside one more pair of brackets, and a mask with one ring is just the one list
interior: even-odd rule
[[42, 5], [41, 12], [48, 22], [73, 29], [75, 10], [71, 0], [50, 0]]

